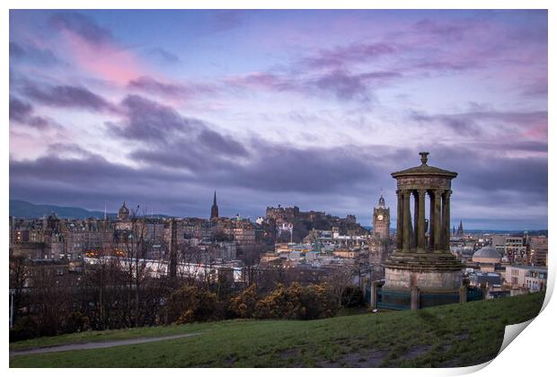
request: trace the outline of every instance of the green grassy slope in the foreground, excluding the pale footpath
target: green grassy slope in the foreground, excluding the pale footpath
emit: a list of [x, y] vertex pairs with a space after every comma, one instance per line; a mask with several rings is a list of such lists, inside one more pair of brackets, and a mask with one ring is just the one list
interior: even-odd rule
[[178, 338], [111, 348], [21, 355], [11, 367], [466, 366], [499, 352], [508, 324], [530, 320], [544, 294], [421, 311], [327, 320], [227, 320], [184, 326], [86, 332], [13, 343], [11, 350], [94, 340]]

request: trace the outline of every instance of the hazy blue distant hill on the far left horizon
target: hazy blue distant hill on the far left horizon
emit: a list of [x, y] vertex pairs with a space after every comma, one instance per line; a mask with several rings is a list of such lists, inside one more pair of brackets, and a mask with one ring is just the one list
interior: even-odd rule
[[[89, 211], [75, 206], [52, 206], [36, 205], [24, 200], [10, 200], [10, 215], [19, 218], [38, 218], [43, 215], [50, 215], [54, 212], [61, 218], [103, 218], [101, 211]], [[116, 217], [116, 214], [106, 214], [108, 217]]]

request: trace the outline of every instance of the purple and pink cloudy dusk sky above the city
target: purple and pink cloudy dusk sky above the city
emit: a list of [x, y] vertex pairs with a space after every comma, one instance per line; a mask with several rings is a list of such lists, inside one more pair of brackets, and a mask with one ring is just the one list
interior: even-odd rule
[[457, 171], [452, 224], [547, 229], [547, 12], [10, 11], [10, 198], [370, 225]]

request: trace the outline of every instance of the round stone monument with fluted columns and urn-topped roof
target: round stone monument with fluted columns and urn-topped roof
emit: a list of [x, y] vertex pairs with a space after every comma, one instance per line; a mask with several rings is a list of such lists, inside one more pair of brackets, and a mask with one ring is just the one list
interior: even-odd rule
[[[401, 297], [410, 301], [411, 309], [463, 300], [464, 266], [449, 246], [451, 180], [457, 173], [429, 166], [428, 154], [420, 153], [420, 166], [391, 174], [398, 202], [396, 250], [385, 261], [382, 299], [386, 305], [390, 300], [393, 305], [401, 302]], [[402, 300], [401, 306], [408, 300]]]

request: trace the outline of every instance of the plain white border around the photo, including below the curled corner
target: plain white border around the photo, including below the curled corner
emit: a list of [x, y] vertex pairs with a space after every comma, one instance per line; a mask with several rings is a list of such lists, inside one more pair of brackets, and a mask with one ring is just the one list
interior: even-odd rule
[[[224, 1], [224, 0], [207, 0], [207, 1], [191, 1], [191, 2], [177, 2], [171, 0], [158, 0], [156, 2], [146, 2], [146, 1], [134, 1], [134, 2], [123, 2], [123, 1], [106, 1], [106, 0], [83, 0], [80, 2], [69, 1], [69, 0], [56, 0], [50, 1], [48, 4], [46, 2], [41, 1], [30, 1], [30, 0], [20, 0], [20, 1], [12, 1], [8, 0], [5, 1], [3, 4], [7, 6], [4, 8], [4, 12], [0, 16], [0, 28], [4, 34], [4, 43], [3, 48], [1, 50], [2, 54], [2, 61], [4, 62], [4, 70], [2, 75], [2, 80], [4, 83], [4, 91], [2, 93], [2, 102], [1, 102], [1, 109], [4, 115], [4, 137], [2, 138], [3, 142], [3, 153], [4, 159], [2, 163], [2, 173], [5, 178], [3, 190], [5, 193], [4, 200], [2, 201], [2, 212], [3, 216], [0, 216], [0, 224], [2, 224], [2, 229], [4, 229], [2, 241], [4, 242], [4, 250], [5, 246], [8, 244], [7, 240], [7, 230], [8, 230], [8, 200], [9, 197], [9, 131], [8, 131], [8, 96], [9, 96], [9, 72], [7, 69], [8, 66], [8, 9], [63, 9], [63, 8], [84, 8], [84, 9], [160, 9], [160, 8], [190, 8], [190, 9], [209, 9], [209, 8], [222, 8], [222, 9], [230, 9], [230, 8], [238, 8], [238, 9], [253, 9], [253, 8], [262, 8], [262, 9], [305, 9], [305, 8], [325, 8], [325, 9], [364, 9], [364, 8], [371, 8], [371, 9], [549, 9], [549, 47], [550, 47], [550, 64], [552, 66], [552, 62], [555, 61], [554, 54], [555, 48], [552, 45], [552, 41], [554, 41], [554, 33], [555, 27], [554, 25], [557, 24], [557, 19], [554, 16], [554, 9], [555, 6], [553, 5], [554, 1], [542, 1], [542, 0], [531, 0], [531, 1], [519, 1], [519, 0], [507, 0], [505, 2], [502, 1], [480, 1], [480, 0], [468, 0], [468, 1], [422, 1], [420, 3], [416, 1], [402, 1], [402, 0], [392, 0], [389, 2], [385, 1], [377, 1], [377, 2], [358, 2], [353, 0], [343, 0], [341, 2], [332, 2], [332, 1], [295, 1], [295, 0], [270, 0], [270, 1], [253, 1], [253, 0], [234, 0], [234, 1]], [[552, 7], [553, 5], [553, 7]], [[553, 75], [550, 70], [549, 73], [549, 90], [550, 90], [550, 99], [551, 93], [555, 90], [555, 82], [553, 80]], [[551, 103], [551, 101], [549, 101]], [[555, 124], [555, 116], [554, 111], [549, 112], [549, 124]], [[554, 142], [554, 132], [552, 127], [549, 127], [549, 141], [550, 145]], [[550, 148], [551, 151], [551, 148]], [[550, 171], [552, 167], [554, 167], [553, 163], [553, 153], [549, 153], [549, 166]], [[555, 192], [555, 180], [554, 176], [549, 176], [549, 192]], [[554, 209], [554, 200], [553, 197], [550, 195], [549, 197], [549, 208]], [[549, 229], [550, 233], [553, 234], [553, 216], [552, 211], [549, 211]], [[553, 255], [553, 253], [551, 253]], [[555, 274], [555, 267], [554, 263], [551, 264], [552, 257], [550, 257], [550, 272], [549, 272], [549, 289], [548, 298], [553, 293], [553, 286], [554, 286], [554, 274]], [[4, 263], [7, 262], [7, 256], [4, 254]], [[4, 266], [5, 268], [5, 266]], [[4, 269], [5, 271], [5, 269]], [[4, 277], [4, 293], [7, 293], [7, 278]], [[554, 301], [554, 300], [553, 300]], [[4, 313], [7, 312], [7, 300], [4, 300]], [[548, 303], [547, 301], [545, 302]], [[552, 366], [554, 364], [554, 355], [553, 355], [553, 345], [554, 345], [554, 337], [555, 337], [555, 324], [553, 318], [557, 318], [555, 313], [557, 309], [555, 309], [554, 302], [549, 302], [545, 307], [542, 315], [538, 316], [532, 323], [528, 326], [528, 329], [520, 336], [511, 342], [511, 344], [498, 356], [494, 359], [494, 361], [490, 363], [483, 364], [482, 366], [489, 366], [482, 368], [482, 366], [476, 367], [469, 367], [469, 368], [453, 368], [453, 369], [373, 369], [373, 370], [354, 370], [354, 369], [328, 369], [328, 370], [289, 370], [287, 373], [304, 373], [304, 374], [315, 374], [317, 375], [333, 375], [337, 373], [349, 373], [352, 375], [366, 375], [369, 376], [370, 374], [381, 374], [382, 376], [391, 376], [391, 375], [424, 375], [424, 376], [431, 376], [431, 375], [455, 375], [455, 374], [464, 374], [464, 373], [472, 373], [475, 370], [481, 369], [478, 374], [479, 375], [493, 375], [493, 373], [499, 374], [508, 374], [508, 375], [536, 375], [536, 374], [547, 374], [551, 373], [553, 369]], [[7, 326], [4, 328], [5, 340], [4, 340], [4, 366], [8, 367], [8, 334], [7, 334]], [[61, 374], [70, 374], [70, 373], [85, 373], [85, 374], [97, 374], [97, 373], [122, 373], [123, 371], [119, 370], [103, 370], [103, 371], [96, 371], [96, 370], [41, 370], [40, 372], [34, 370], [9, 370], [9, 373], [18, 373], [18, 374], [27, 374], [27, 373], [46, 373], [47, 375], [57, 375]], [[129, 370], [130, 373], [137, 373], [137, 374], [151, 374], [153, 371], [149, 370]], [[164, 373], [188, 373], [188, 374], [195, 374], [195, 373], [202, 373], [204, 375], [207, 374], [226, 374], [226, 375], [257, 375], [260, 376], [261, 373], [265, 375], [279, 375], [279, 373], [284, 373], [282, 370], [261, 370], [261, 369], [250, 369], [250, 370], [217, 370], [217, 369], [188, 369], [186, 371], [181, 370], [165, 370]]]

